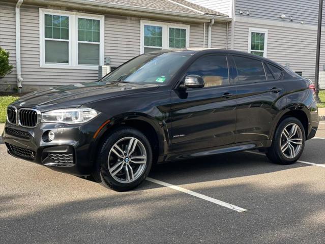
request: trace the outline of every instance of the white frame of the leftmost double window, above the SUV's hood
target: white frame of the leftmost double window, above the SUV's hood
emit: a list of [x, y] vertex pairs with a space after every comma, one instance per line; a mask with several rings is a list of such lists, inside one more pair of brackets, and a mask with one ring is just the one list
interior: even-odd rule
[[[69, 17], [69, 64], [46, 64], [45, 63], [45, 40], [65, 41], [61, 39], [46, 39], [44, 34], [45, 14], [61, 15]], [[40, 8], [40, 68], [52, 69], [83, 69], [98, 70], [98, 65], [78, 65], [78, 18], [88, 18], [100, 21], [100, 42], [99, 42], [99, 65], [104, 65], [104, 15], [84, 14], [78, 12], [41, 9]], [[81, 42], [81, 41], [80, 41]], [[95, 43], [95, 42], [84, 42]], [[98, 43], [95, 43], [98, 44]]]

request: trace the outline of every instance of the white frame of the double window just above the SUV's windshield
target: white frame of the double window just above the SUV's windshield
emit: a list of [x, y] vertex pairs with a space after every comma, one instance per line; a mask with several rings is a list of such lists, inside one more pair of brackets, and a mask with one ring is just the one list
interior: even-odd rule
[[[169, 28], [186, 29], [186, 48], [190, 47], [190, 25], [188, 24], [175, 24], [167, 22], [157, 22], [150, 20], [140, 20], [140, 54], [144, 53], [144, 47], [155, 48], [150, 46], [144, 46], [144, 25], [161, 26], [162, 30], [162, 49], [169, 48]], [[158, 47], [159, 48], [159, 47]]]

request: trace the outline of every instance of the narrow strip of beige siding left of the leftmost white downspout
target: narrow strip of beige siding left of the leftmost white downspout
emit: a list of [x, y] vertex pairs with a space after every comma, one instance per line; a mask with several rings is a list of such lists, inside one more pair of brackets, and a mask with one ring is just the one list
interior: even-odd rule
[[0, 7], [0, 46], [10, 52], [9, 63], [14, 66], [12, 73], [0, 79], [1, 89], [10, 89], [16, 84], [16, 28], [14, 5]]

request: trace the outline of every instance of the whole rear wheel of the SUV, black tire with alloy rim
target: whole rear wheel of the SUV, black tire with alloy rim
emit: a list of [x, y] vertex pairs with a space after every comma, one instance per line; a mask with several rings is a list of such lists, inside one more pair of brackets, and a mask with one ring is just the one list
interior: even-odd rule
[[[292, 131], [293, 127], [294, 131]], [[291, 135], [292, 132], [295, 134]], [[293, 164], [302, 155], [305, 140], [305, 129], [301, 121], [295, 117], [286, 117], [278, 125], [272, 145], [268, 148], [266, 155], [273, 163]]]

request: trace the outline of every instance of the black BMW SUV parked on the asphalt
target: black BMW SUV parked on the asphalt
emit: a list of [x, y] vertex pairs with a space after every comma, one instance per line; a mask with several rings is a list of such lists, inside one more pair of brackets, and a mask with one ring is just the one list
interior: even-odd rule
[[166, 161], [258, 148], [290, 164], [318, 127], [310, 80], [218, 49], [143, 54], [97, 82], [21, 97], [7, 113], [9, 154], [116, 191]]

